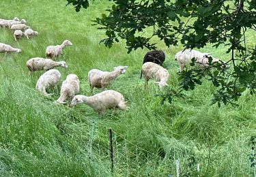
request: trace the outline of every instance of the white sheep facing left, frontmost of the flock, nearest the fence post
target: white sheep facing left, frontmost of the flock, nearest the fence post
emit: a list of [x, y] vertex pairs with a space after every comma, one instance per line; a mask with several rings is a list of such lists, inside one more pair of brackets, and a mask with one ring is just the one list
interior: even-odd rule
[[124, 96], [121, 93], [112, 90], [106, 90], [91, 97], [75, 95], [70, 106], [75, 106], [81, 103], [85, 103], [87, 106], [93, 108], [98, 112], [99, 116], [102, 116], [106, 109], [119, 108], [120, 110], [126, 110]]

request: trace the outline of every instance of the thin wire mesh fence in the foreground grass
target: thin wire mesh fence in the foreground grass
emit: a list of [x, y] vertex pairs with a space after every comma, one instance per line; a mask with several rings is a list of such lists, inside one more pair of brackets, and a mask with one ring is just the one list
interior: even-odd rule
[[[101, 120], [87, 119], [86, 121], [89, 127], [87, 148], [90, 159], [93, 161], [104, 159], [102, 165], [105, 166], [106, 161], [108, 161], [106, 169], [109, 171], [113, 169], [113, 174], [121, 176], [200, 176], [208, 170], [209, 162], [207, 159], [205, 161], [189, 159], [190, 154], [184, 155], [184, 158], [162, 155], [157, 150], [150, 151], [145, 149], [145, 145], [140, 146], [136, 141], [135, 143], [132, 142], [134, 139], [130, 140], [124, 133], [119, 133], [115, 129], [112, 129], [113, 152], [111, 152], [109, 148], [111, 143], [109, 129], [111, 127]], [[99, 128], [102, 131], [102, 127], [104, 133], [102, 135], [101, 132], [99, 135], [96, 131]], [[111, 153], [113, 153], [112, 159]], [[253, 151], [251, 154], [252, 157], [255, 156]], [[253, 167], [248, 167], [246, 173], [255, 174], [255, 159], [252, 163], [248, 162], [248, 166], [249, 164], [253, 164]]]

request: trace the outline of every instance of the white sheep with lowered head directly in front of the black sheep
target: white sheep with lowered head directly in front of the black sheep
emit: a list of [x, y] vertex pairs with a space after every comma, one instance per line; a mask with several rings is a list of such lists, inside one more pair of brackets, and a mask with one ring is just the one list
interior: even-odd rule
[[167, 69], [152, 62], [147, 62], [142, 65], [142, 74], [145, 78], [145, 88], [147, 88], [147, 82], [150, 79], [156, 80], [158, 87], [162, 91], [164, 86], [168, 85], [167, 80], [169, 78], [169, 72]]

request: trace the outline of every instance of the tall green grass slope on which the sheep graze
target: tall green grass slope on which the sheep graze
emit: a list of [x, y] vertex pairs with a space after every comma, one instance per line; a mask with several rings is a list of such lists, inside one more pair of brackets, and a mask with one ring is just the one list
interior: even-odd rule
[[[65, 1], [8, 1], [0, 3], [0, 18], [25, 18], [39, 32], [31, 40], [14, 42], [9, 30], [0, 31], [0, 42], [21, 48], [21, 54], [0, 54], [0, 176], [110, 176], [108, 128], [114, 133], [115, 176], [167, 176], [175, 174], [175, 159], [182, 174], [195, 172], [201, 164], [205, 176], [248, 176], [252, 174], [247, 155], [249, 140], [256, 134], [255, 97], [245, 93], [240, 106], [210, 106], [214, 87], [208, 82], [185, 99], [160, 106], [158, 92], [151, 82], [144, 91], [139, 72], [147, 50], [126, 54], [122, 44], [113, 48], [98, 45], [104, 31], [91, 27], [108, 1], [94, 1], [88, 10], [76, 13]], [[255, 45], [251, 34], [248, 46]], [[53, 103], [59, 96], [45, 98], [34, 89], [43, 73], [28, 77], [25, 67], [31, 57], [44, 57], [46, 46], [69, 39], [64, 49], [70, 73], [81, 80], [83, 95], [89, 95], [87, 71], [112, 70], [128, 65], [127, 73], [111, 86], [124, 94], [130, 109], [106, 112], [103, 118], [87, 106], [74, 109]], [[177, 87], [177, 64], [173, 58], [182, 47], [166, 48], [169, 84]], [[207, 46], [214, 57], [229, 59], [225, 48]], [[100, 92], [99, 90], [97, 92]], [[209, 163], [210, 162], [210, 163]]]

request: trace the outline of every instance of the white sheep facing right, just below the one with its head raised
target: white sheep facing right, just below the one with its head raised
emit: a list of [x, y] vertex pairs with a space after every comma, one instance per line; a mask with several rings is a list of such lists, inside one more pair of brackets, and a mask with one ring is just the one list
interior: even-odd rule
[[38, 70], [47, 71], [49, 69], [53, 69], [54, 67], [58, 67], [58, 66], [64, 67], [64, 68], [68, 67], [65, 61], [53, 61], [51, 59], [43, 59], [40, 57], [29, 59], [26, 65], [30, 71], [29, 75], [31, 75], [33, 71], [38, 71]]

